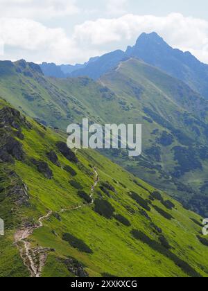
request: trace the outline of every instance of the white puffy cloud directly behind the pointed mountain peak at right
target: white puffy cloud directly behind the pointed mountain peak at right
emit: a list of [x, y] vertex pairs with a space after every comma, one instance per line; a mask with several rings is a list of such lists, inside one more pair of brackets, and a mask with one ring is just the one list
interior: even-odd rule
[[156, 31], [168, 44], [195, 53], [208, 62], [208, 21], [172, 13], [166, 17], [153, 15], [123, 15], [113, 19], [85, 21], [76, 26], [73, 38], [85, 46], [106, 46], [116, 42], [115, 48], [132, 42], [141, 33]]

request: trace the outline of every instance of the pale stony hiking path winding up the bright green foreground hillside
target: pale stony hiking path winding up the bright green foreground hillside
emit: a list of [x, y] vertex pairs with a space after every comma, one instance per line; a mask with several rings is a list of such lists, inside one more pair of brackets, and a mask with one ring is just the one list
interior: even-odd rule
[[[92, 201], [89, 204], [81, 204], [76, 207], [72, 207], [70, 209], [62, 209], [60, 212], [64, 213], [66, 211], [75, 211], [77, 209], [81, 209], [86, 206], [91, 206], [94, 204], [94, 191], [99, 182], [99, 176], [96, 168], [94, 167], [94, 184], [91, 187], [90, 198]], [[46, 258], [48, 252], [51, 252], [51, 249], [37, 247], [33, 249], [31, 247], [31, 243], [28, 241], [28, 238], [33, 234], [35, 229], [40, 229], [43, 227], [43, 220], [46, 220], [52, 215], [52, 211], [49, 211], [46, 215], [41, 216], [38, 220], [38, 223], [33, 227], [28, 227], [26, 229], [21, 229], [15, 233], [15, 245], [19, 249], [20, 256], [24, 265], [28, 268], [31, 273], [31, 277], [39, 278], [42, 273], [42, 268], [46, 263]], [[54, 250], [53, 250], [54, 251]]]

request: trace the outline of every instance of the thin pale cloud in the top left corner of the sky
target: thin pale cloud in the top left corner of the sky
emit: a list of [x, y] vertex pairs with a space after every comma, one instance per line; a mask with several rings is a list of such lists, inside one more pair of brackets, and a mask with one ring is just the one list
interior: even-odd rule
[[0, 17], [49, 19], [78, 11], [76, 0], [0, 0]]

